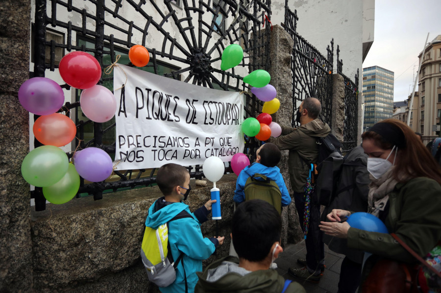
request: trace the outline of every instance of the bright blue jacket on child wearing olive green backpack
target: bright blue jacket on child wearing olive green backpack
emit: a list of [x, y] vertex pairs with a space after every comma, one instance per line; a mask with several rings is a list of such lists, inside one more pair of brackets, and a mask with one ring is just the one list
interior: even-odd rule
[[250, 166], [246, 166], [239, 174], [239, 177], [237, 177], [236, 190], [234, 191], [233, 197], [235, 202], [239, 203], [245, 201], [245, 183], [250, 176], [254, 175], [254, 173], [265, 175], [268, 179], [275, 181], [282, 194], [282, 206], [291, 203], [291, 196], [286, 188], [285, 180], [283, 180], [280, 169], [277, 166], [267, 167], [260, 163], [253, 163]]

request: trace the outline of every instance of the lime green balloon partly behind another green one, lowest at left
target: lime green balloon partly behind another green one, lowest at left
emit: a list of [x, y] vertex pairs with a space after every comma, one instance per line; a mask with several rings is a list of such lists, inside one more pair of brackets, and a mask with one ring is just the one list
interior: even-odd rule
[[43, 195], [51, 203], [66, 203], [76, 195], [79, 184], [80, 179], [75, 166], [69, 164], [68, 171], [60, 181], [54, 185], [43, 187]]

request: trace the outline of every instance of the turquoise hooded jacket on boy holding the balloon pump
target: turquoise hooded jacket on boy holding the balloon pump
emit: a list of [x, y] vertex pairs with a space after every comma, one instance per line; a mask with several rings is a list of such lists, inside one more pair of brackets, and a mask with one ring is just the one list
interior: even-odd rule
[[186, 211], [193, 218], [173, 220], [169, 223], [169, 244], [173, 259], [182, 252], [182, 260], [176, 269], [176, 280], [168, 287], [159, 288], [163, 293], [185, 293], [184, 268], [187, 275], [188, 292], [193, 292], [197, 276], [196, 271], [202, 270], [202, 260], [207, 259], [214, 251], [215, 244], [202, 236], [200, 222], [190, 212], [188, 205], [182, 202], [166, 202], [159, 198], [148, 209], [146, 226], [157, 229], [181, 211]]

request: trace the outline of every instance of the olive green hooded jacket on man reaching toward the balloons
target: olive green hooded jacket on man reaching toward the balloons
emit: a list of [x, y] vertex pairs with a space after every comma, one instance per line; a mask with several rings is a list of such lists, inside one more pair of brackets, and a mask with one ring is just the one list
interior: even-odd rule
[[331, 132], [329, 125], [315, 119], [309, 123], [293, 128], [282, 127], [282, 135], [271, 138], [270, 142], [280, 149], [289, 149], [288, 165], [291, 187], [294, 192], [303, 193], [311, 163], [317, 163], [319, 146], [317, 138], [325, 137]]

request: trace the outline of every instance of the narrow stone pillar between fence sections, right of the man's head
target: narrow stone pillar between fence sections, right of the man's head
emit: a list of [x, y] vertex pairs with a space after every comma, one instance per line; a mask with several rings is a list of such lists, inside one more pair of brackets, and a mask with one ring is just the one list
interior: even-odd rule
[[332, 74], [332, 134], [343, 142], [344, 128], [344, 79]]

